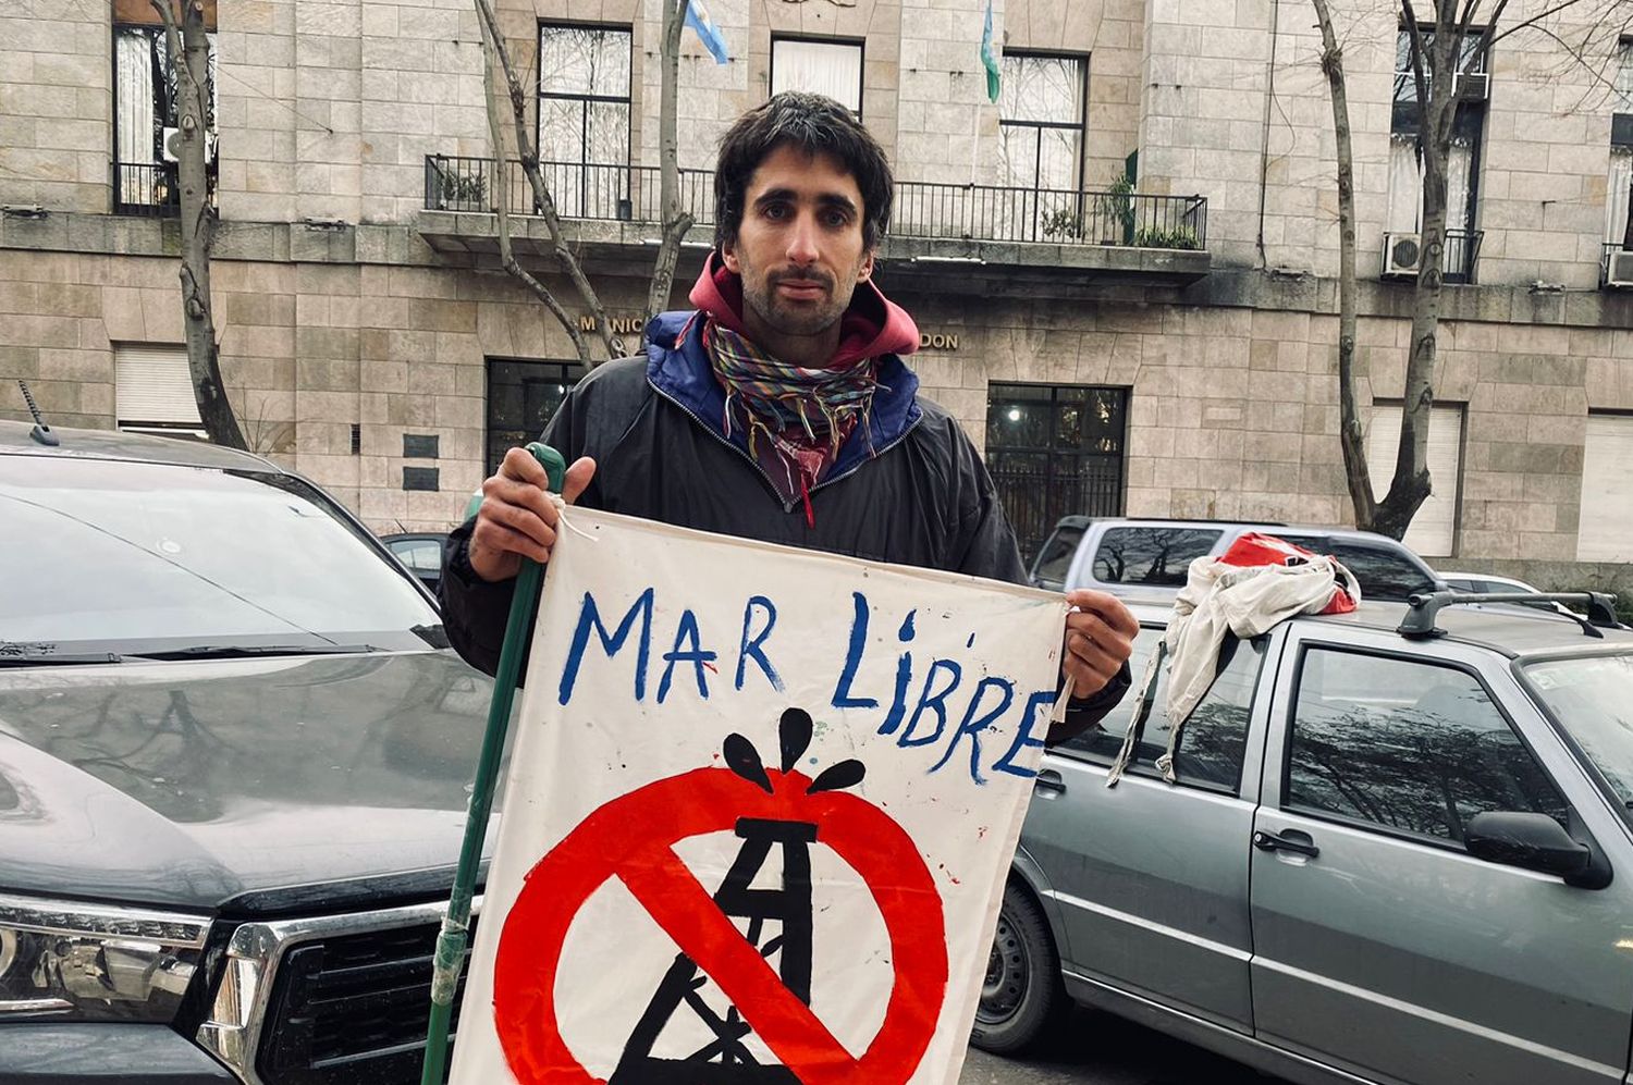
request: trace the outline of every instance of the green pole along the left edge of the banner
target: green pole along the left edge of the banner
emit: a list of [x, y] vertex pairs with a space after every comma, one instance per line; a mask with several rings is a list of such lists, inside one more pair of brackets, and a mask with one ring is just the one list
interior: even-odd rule
[[[544, 467], [550, 491], [562, 491], [567, 462], [555, 449], [539, 444], [527, 450]], [[474, 503], [475, 504], [475, 503]], [[447, 1028], [454, 1012], [454, 992], [465, 959], [465, 943], [470, 935], [470, 897], [477, 888], [477, 866], [482, 863], [482, 840], [488, 832], [488, 816], [493, 813], [493, 786], [498, 783], [500, 755], [505, 751], [505, 733], [509, 729], [511, 702], [516, 698], [516, 672], [527, 649], [527, 618], [539, 597], [539, 581], [544, 566], [523, 558], [516, 574], [516, 594], [511, 599], [509, 620], [505, 623], [505, 644], [500, 648], [500, 667], [493, 675], [493, 702], [488, 705], [488, 728], [482, 736], [482, 755], [477, 759], [477, 780], [470, 791], [470, 813], [465, 819], [465, 840], [459, 848], [459, 868], [454, 871], [454, 892], [447, 899], [447, 917], [436, 937], [436, 956], [431, 971], [431, 1023], [425, 1036], [425, 1064], [420, 1085], [443, 1085], [447, 1072]]]

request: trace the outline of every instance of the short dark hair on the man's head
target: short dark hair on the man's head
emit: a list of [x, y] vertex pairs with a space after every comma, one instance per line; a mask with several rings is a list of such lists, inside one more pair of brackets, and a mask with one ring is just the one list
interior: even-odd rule
[[715, 163], [715, 245], [736, 241], [754, 170], [779, 147], [833, 155], [862, 193], [862, 241], [875, 248], [890, 225], [895, 178], [885, 148], [833, 98], [784, 91], [740, 116], [720, 137]]

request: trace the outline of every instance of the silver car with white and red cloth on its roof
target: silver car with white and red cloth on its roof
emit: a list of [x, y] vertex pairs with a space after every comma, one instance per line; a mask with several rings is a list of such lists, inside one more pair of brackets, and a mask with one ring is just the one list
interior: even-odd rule
[[1633, 633], [1450, 599], [1228, 640], [1174, 783], [1163, 687], [1115, 788], [1127, 706], [1052, 749], [975, 1044], [1076, 1000], [1292, 1082], [1626, 1082]]

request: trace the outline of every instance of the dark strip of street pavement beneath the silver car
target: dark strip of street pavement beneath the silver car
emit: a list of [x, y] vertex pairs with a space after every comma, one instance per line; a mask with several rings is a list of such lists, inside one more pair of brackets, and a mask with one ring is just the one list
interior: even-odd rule
[[1109, 1013], [1078, 1010], [1019, 1059], [970, 1049], [959, 1085], [1285, 1085]]

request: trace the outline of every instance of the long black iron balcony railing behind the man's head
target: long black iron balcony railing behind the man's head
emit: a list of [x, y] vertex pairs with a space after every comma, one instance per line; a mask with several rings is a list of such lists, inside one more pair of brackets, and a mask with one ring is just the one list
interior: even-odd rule
[[[506, 206], [537, 214], [526, 173], [505, 163]], [[563, 219], [660, 222], [658, 166], [542, 162], [539, 170]], [[493, 209], [492, 158], [428, 155], [426, 210]], [[681, 204], [699, 225], [714, 224], [714, 173], [681, 170]], [[1207, 248], [1208, 201], [1204, 196], [1073, 193], [897, 181], [890, 233], [908, 238], [1039, 241], [1053, 245], [1135, 245]]]

